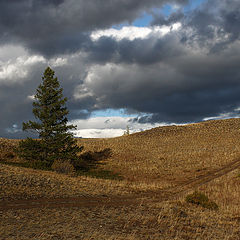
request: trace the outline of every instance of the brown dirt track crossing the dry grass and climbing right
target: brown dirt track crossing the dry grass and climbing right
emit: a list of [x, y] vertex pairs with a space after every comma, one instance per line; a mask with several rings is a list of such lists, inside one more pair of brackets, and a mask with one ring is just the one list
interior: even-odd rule
[[240, 159], [237, 159], [222, 168], [214, 170], [206, 175], [199, 176], [183, 184], [167, 189], [165, 191], [146, 192], [144, 194], [132, 194], [128, 196], [82, 196], [72, 198], [54, 199], [28, 199], [1, 201], [0, 211], [9, 209], [31, 209], [31, 208], [60, 208], [60, 207], [96, 207], [96, 206], [128, 206], [141, 204], [143, 201], [165, 201], [172, 200], [186, 194], [188, 191], [219, 178], [236, 168], [240, 167]]

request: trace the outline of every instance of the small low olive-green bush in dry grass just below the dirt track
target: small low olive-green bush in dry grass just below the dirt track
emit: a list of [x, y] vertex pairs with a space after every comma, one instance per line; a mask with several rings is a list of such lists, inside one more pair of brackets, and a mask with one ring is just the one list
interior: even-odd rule
[[200, 192], [194, 192], [192, 194], [187, 195], [186, 202], [200, 205], [200, 206], [210, 209], [210, 210], [218, 209], [218, 205], [215, 202], [210, 201], [205, 194], [200, 193]]

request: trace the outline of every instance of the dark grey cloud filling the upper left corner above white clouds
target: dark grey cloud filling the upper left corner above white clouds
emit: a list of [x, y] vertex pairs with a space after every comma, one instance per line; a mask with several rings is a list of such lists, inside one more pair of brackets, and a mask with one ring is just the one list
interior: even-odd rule
[[0, 41], [20, 41], [46, 56], [74, 52], [89, 41], [88, 32], [131, 22], [166, 2], [187, 0], [2, 0]]

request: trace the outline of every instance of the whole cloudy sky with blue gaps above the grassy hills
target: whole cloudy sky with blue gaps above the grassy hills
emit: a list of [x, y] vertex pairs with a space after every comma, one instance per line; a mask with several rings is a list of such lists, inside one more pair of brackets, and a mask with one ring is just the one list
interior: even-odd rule
[[0, 0], [0, 137], [47, 66], [78, 137], [239, 117], [239, 0]]

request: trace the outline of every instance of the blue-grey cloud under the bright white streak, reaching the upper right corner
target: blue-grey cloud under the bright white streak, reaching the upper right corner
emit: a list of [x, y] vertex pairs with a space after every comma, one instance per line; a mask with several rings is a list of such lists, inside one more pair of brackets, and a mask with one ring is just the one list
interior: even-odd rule
[[[186, 46], [202, 50], [205, 48], [207, 54], [214, 54], [239, 39], [240, 2], [231, 3], [227, 0], [221, 3], [208, 1], [187, 16], [180, 10], [169, 17], [162, 14], [155, 16], [153, 25], [182, 23], [180, 32], [173, 31], [162, 38], [152, 35], [146, 39], [117, 41], [111, 37], [101, 37], [98, 41], [88, 41], [83, 50], [88, 53], [90, 61], [101, 64], [106, 62], [152, 64], [168, 61], [169, 58], [186, 54], [183, 50]], [[231, 7], [228, 7], [229, 5]]]

